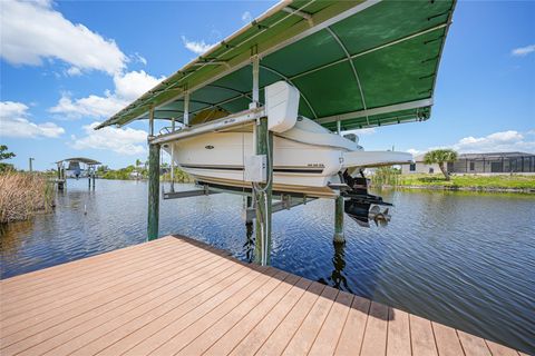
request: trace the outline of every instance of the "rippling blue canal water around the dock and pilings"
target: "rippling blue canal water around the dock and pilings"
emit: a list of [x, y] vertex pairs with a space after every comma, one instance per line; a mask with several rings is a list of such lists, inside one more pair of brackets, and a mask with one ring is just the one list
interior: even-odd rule
[[[381, 194], [396, 205], [388, 228], [346, 218], [343, 247], [332, 244], [332, 200], [276, 212], [272, 265], [535, 354], [535, 197]], [[70, 180], [57, 204], [2, 228], [2, 278], [145, 240], [146, 182], [97, 180], [89, 191]], [[162, 201], [160, 234], [250, 260], [242, 206], [226, 194]]]

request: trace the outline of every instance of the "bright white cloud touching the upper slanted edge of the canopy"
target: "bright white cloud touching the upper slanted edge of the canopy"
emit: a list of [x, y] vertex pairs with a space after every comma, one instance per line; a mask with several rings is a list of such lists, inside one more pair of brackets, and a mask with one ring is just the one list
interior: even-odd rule
[[164, 77], [155, 78], [144, 70], [130, 71], [114, 76], [114, 92], [106, 90], [104, 96], [90, 95], [72, 99], [69, 93], [62, 93], [59, 102], [49, 109], [58, 118], [79, 119], [82, 117], [101, 119], [110, 117], [152, 89]]

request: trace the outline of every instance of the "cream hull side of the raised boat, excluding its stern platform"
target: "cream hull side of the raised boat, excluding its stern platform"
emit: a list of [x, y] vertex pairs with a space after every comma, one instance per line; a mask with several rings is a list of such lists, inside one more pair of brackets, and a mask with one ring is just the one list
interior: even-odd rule
[[[211, 132], [174, 145], [174, 161], [196, 180], [251, 187], [244, 180], [244, 160], [254, 154], [252, 132]], [[332, 196], [328, 187], [341, 169], [341, 151], [273, 138], [273, 189]], [[171, 147], [166, 148], [171, 154]]]

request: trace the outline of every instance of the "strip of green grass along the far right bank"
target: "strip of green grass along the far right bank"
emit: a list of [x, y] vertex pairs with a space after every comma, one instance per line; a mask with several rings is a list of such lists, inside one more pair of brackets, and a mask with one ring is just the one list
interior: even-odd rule
[[398, 186], [458, 187], [458, 188], [497, 188], [497, 189], [535, 189], [535, 176], [451, 176], [447, 181], [442, 175], [401, 175]]

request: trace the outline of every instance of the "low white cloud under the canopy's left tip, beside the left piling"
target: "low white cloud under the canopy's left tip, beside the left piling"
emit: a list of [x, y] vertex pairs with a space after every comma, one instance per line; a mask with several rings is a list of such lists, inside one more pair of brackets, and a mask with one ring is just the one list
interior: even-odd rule
[[86, 136], [77, 138], [71, 136], [69, 146], [75, 149], [104, 149], [120, 155], [142, 155], [146, 152], [147, 132], [133, 128], [105, 127], [95, 131], [100, 122], [84, 126]]

